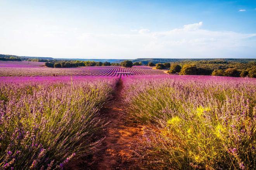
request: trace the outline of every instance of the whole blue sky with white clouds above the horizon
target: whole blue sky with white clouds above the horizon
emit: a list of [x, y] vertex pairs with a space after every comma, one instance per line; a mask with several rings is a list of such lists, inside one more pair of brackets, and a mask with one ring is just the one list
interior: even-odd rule
[[0, 0], [0, 54], [256, 58], [256, 0]]

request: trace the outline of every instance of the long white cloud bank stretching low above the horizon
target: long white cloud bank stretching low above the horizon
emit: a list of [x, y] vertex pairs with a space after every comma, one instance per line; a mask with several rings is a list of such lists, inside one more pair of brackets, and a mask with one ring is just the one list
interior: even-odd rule
[[[198, 22], [168, 31], [140, 29], [125, 34], [31, 29], [22, 31], [19, 39], [15, 37], [20, 33], [12, 32], [12, 39], [0, 34], [0, 47], [4, 54], [13, 54], [15, 49], [17, 55], [61, 58], [255, 57], [256, 33], [209, 31], [202, 25]], [[50, 36], [43, 36], [47, 31], [52, 31]]]

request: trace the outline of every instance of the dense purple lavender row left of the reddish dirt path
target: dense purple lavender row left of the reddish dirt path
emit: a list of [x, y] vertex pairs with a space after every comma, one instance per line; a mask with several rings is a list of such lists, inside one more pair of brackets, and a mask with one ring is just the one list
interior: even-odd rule
[[0, 168], [63, 168], [100, 145], [99, 110], [118, 79], [0, 81]]

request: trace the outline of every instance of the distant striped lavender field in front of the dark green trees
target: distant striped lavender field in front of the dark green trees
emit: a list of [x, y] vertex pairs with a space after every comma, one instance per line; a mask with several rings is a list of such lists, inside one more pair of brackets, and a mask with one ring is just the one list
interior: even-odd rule
[[[121, 66], [86, 66], [79, 68], [48, 68], [42, 62], [1, 61], [0, 76], [131, 76], [159, 75], [161, 70], [149, 66], [122, 68]], [[122, 73], [124, 72], [124, 73]]]

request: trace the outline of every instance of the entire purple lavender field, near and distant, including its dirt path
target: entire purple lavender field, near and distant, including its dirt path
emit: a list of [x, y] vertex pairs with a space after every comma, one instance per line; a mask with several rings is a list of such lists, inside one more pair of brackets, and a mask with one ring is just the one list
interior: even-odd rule
[[256, 169], [255, 78], [17, 62], [0, 63], [1, 169]]

